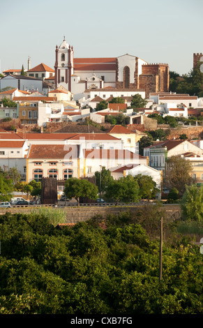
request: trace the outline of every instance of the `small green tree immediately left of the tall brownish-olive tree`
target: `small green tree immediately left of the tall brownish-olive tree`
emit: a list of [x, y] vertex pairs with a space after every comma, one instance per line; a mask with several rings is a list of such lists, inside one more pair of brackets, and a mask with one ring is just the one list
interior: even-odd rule
[[156, 193], [158, 193], [159, 189], [156, 188], [156, 182], [153, 181], [152, 177], [149, 177], [149, 175], [137, 174], [134, 179], [138, 183], [141, 199], [149, 200], [156, 197]]

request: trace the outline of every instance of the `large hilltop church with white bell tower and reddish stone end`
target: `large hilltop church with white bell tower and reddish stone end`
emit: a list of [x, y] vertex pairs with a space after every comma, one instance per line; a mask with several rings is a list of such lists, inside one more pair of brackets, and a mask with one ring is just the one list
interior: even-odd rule
[[168, 64], [149, 64], [143, 59], [123, 54], [112, 58], [74, 58], [73, 46], [65, 38], [55, 50], [55, 86], [66, 88], [74, 100], [84, 91], [114, 88], [123, 91], [169, 91]]

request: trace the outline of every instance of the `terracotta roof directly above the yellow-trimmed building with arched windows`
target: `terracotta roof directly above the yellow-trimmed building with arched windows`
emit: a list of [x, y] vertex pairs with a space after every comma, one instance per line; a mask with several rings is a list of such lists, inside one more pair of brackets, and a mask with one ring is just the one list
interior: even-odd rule
[[79, 147], [77, 145], [63, 144], [31, 144], [27, 158], [63, 159], [67, 161], [78, 158]]

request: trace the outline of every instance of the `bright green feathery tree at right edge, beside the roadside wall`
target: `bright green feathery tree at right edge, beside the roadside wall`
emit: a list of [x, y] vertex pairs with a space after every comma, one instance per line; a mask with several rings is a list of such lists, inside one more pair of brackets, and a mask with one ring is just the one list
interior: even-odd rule
[[181, 199], [183, 218], [190, 221], [203, 221], [203, 186], [191, 185]]

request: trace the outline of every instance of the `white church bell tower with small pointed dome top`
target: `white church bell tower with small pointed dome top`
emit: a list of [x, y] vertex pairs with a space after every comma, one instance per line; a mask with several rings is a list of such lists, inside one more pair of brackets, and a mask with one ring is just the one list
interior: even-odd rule
[[55, 86], [61, 85], [71, 91], [71, 75], [73, 75], [73, 47], [63, 39], [61, 45], [56, 47]]

